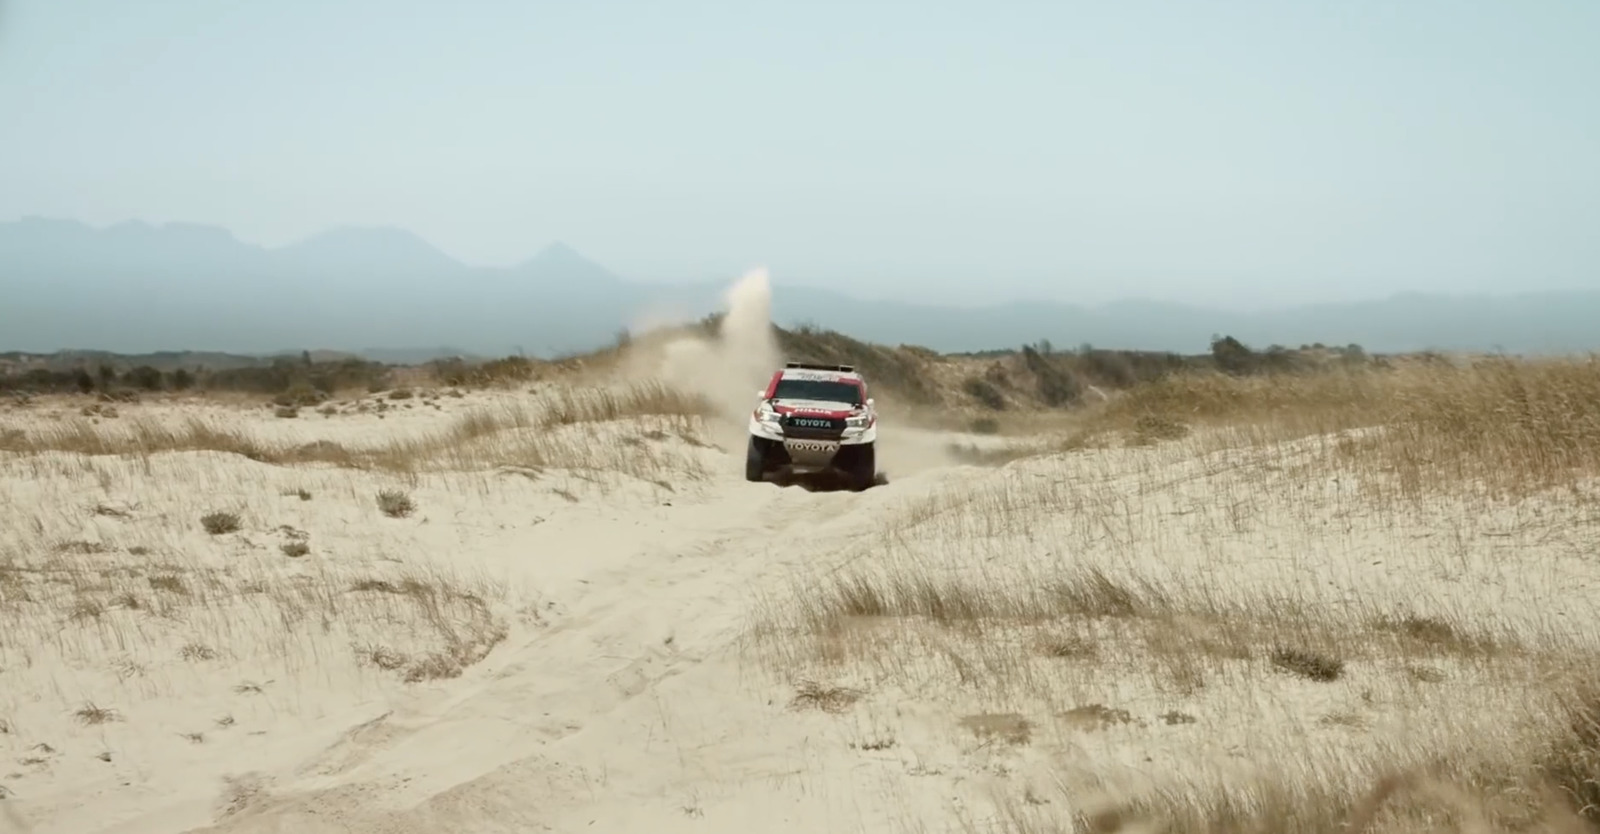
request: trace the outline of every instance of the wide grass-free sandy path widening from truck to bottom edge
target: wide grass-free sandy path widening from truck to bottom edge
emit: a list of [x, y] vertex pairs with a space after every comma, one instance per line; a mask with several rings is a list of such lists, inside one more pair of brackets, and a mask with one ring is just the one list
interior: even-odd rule
[[[698, 499], [645, 512], [574, 506], [459, 554], [539, 554], [526, 571], [547, 599], [546, 624], [514, 634], [450, 687], [376, 711], [288, 772], [234, 775], [205, 807], [102, 831], [701, 829], [698, 805], [709, 794], [730, 800], [718, 816], [734, 829], [861, 826], [838, 796], [784, 784], [802, 770], [792, 756], [803, 759], [803, 744], [771, 743], [766, 732], [792, 690], [747, 680], [736, 640], [750, 591], [837, 559], [877, 533], [888, 503], [934, 490], [952, 471], [845, 493], [744, 483], [736, 463], [730, 456]], [[834, 791], [859, 788], [848, 770], [840, 776]], [[779, 812], [773, 794], [789, 808]], [[219, 808], [214, 824], [192, 826]], [[86, 829], [62, 818], [40, 834], [56, 831]]]

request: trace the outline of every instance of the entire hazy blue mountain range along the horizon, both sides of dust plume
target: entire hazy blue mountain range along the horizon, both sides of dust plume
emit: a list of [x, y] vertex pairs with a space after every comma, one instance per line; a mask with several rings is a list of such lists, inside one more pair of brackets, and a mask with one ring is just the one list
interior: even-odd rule
[[[627, 282], [562, 243], [512, 267], [472, 267], [394, 227], [333, 229], [267, 248], [211, 226], [96, 229], [27, 218], [0, 223], [0, 351], [280, 354], [306, 347], [389, 362], [517, 351], [550, 355], [602, 346], [662, 311], [712, 312], [726, 283]], [[782, 325], [811, 322], [862, 339], [941, 351], [1050, 339], [1061, 347], [1200, 352], [1214, 333], [1261, 347], [1600, 349], [1600, 291], [1397, 295], [1242, 314], [1155, 301], [941, 307], [864, 301], [778, 280], [773, 314]]]

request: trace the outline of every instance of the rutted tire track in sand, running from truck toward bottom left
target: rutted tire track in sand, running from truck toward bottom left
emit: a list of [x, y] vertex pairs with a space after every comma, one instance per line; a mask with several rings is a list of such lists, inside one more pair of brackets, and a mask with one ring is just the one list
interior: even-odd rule
[[728, 480], [714, 504], [734, 523], [677, 552], [642, 547], [590, 581], [560, 623], [496, 652], [499, 666], [475, 688], [352, 730], [190, 834], [544, 831], [587, 791], [584, 773], [547, 756], [552, 744], [725, 652], [746, 587], [870, 535], [891, 501], [938, 480], [933, 469], [864, 493]]

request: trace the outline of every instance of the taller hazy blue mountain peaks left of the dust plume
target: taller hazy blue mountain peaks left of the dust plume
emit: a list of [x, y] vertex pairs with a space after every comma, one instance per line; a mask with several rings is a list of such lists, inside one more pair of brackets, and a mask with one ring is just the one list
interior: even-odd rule
[[336, 229], [264, 248], [205, 226], [0, 224], [0, 349], [453, 343], [544, 354], [611, 338], [629, 296], [621, 279], [562, 245], [482, 269], [400, 229]]

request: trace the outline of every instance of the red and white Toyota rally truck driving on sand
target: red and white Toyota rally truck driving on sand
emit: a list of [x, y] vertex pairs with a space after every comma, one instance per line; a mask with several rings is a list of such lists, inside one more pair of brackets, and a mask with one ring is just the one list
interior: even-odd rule
[[746, 480], [768, 472], [837, 472], [853, 490], [877, 477], [878, 413], [851, 365], [787, 362], [757, 392]]

